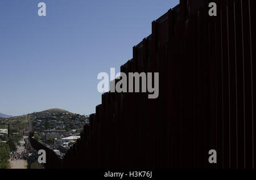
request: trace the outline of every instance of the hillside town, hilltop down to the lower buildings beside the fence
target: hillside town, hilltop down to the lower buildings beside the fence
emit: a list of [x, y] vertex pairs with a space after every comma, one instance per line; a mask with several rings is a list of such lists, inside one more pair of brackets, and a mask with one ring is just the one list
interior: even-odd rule
[[[34, 112], [10, 118], [0, 118], [0, 140], [5, 145], [10, 144], [10, 139], [19, 135], [13, 150], [21, 137], [33, 136], [33, 138], [63, 157], [67, 150], [80, 138], [82, 127], [89, 123], [86, 115], [74, 114], [63, 109], [48, 109], [42, 112]], [[32, 125], [32, 126], [31, 126]], [[31, 127], [29, 127], [31, 126]], [[15, 133], [8, 130], [16, 130]], [[6, 131], [6, 132], [4, 132]], [[11, 138], [8, 138], [8, 137]]]

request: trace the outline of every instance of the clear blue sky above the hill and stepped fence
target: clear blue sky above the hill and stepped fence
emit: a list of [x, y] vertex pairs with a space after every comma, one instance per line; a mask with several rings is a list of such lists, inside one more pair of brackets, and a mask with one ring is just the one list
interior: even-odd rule
[[[47, 16], [38, 16], [38, 3]], [[95, 113], [99, 72], [132, 58], [177, 0], [1, 0], [0, 112]]]

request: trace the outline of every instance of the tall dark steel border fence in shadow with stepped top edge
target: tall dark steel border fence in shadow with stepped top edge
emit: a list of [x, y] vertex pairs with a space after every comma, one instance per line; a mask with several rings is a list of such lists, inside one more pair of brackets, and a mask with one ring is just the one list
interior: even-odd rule
[[121, 71], [159, 72], [159, 97], [104, 93], [62, 167], [254, 168], [255, 4], [182, 0], [152, 22]]

